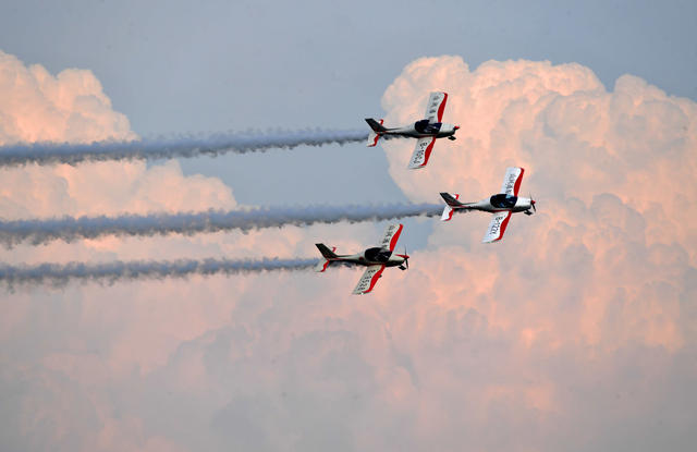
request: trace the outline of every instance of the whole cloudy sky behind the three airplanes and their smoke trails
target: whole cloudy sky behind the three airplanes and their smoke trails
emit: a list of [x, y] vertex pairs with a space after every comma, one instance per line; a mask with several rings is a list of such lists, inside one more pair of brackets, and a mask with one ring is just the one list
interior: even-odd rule
[[[8, 450], [692, 450], [694, 2], [0, 5], [0, 145], [408, 123], [408, 141], [0, 168], [3, 220], [477, 200], [526, 169], [535, 216], [405, 219], [406, 272], [1, 288]], [[387, 222], [0, 247], [0, 261], [314, 257]]]

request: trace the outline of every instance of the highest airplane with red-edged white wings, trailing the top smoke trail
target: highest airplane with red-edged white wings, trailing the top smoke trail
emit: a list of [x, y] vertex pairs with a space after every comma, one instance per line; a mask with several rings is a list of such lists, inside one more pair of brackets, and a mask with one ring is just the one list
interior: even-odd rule
[[367, 146], [376, 146], [381, 136], [417, 138], [416, 148], [409, 160], [408, 168], [412, 170], [425, 168], [433, 150], [436, 138], [448, 137], [448, 139], [455, 139], [455, 131], [460, 129], [460, 125], [443, 124], [441, 122], [447, 101], [448, 93], [431, 93], [426, 108], [426, 119], [403, 127], [388, 129], [382, 125], [383, 120], [376, 121], [372, 118], [366, 118], [366, 122], [372, 130], [368, 135]]

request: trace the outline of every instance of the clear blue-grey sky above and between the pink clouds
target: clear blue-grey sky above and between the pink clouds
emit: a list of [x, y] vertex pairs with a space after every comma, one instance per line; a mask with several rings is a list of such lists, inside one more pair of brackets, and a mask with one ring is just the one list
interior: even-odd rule
[[[462, 56], [473, 69], [487, 60], [577, 62], [608, 89], [629, 73], [697, 98], [692, 1], [23, 1], [0, 8], [5, 52], [52, 73], [90, 69], [114, 109], [145, 136], [365, 129], [363, 119], [380, 117], [380, 97], [407, 62], [440, 54]], [[403, 199], [384, 178], [383, 154], [359, 144], [182, 166], [219, 176], [241, 203]], [[344, 190], [357, 174], [360, 184]]]

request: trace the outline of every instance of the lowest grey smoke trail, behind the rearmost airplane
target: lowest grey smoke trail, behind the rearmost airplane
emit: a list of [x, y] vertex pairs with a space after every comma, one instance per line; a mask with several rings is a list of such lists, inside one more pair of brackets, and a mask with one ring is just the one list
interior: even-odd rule
[[180, 259], [134, 260], [106, 264], [39, 264], [36, 266], [0, 265], [0, 283], [13, 290], [17, 285], [48, 284], [61, 286], [71, 280], [113, 283], [134, 279], [162, 279], [191, 274], [237, 274], [276, 270], [305, 270], [317, 265], [319, 259]]

